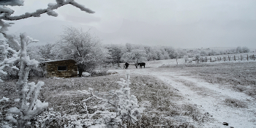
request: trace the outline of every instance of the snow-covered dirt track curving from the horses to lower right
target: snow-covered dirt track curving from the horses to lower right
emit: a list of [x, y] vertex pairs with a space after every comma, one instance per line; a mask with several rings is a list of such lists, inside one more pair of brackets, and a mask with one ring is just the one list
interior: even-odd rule
[[[115, 69], [124, 74], [124, 69]], [[208, 113], [211, 120], [203, 127], [235, 127], [256, 128], [256, 102], [244, 93], [233, 91], [232, 88], [219, 84], [207, 83], [194, 78], [187, 72], [170, 72], [160, 68], [129, 69], [131, 75], [152, 75], [172, 86], [181, 93], [184, 101], [197, 106], [202, 113]], [[245, 108], [236, 108], [227, 105], [225, 99], [238, 99], [246, 105]], [[227, 122], [228, 126], [223, 125]]]

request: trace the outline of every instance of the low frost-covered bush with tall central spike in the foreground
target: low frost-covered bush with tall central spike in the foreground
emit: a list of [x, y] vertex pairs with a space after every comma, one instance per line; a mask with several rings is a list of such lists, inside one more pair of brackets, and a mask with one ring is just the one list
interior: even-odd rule
[[[126, 79], [121, 78], [121, 81], [117, 83], [121, 86], [118, 90], [109, 91], [107, 94], [102, 94], [102, 97], [98, 97], [93, 93], [92, 89], [89, 91], [80, 91], [83, 94], [90, 94], [91, 97], [83, 99], [83, 111], [87, 112], [87, 117], [91, 118], [99, 114], [102, 118], [96, 121], [96, 126], [103, 125], [105, 127], [117, 127], [122, 125], [123, 121], [129, 121], [134, 123], [140, 117], [140, 113], [143, 112], [143, 108], [138, 105], [138, 99], [134, 95], [130, 95], [129, 88], [129, 72], [126, 74]], [[95, 105], [93, 108], [97, 108], [94, 113], [88, 114], [88, 107], [86, 102], [90, 99], [97, 99], [101, 101], [100, 105]], [[101, 121], [103, 120], [103, 121]]]

